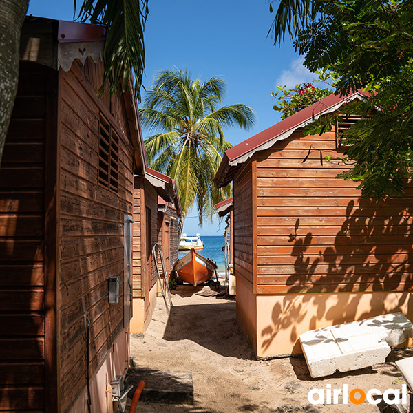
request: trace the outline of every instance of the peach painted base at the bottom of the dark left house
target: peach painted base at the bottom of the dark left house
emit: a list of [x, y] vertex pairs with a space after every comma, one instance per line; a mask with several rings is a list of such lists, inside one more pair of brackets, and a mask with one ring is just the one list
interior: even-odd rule
[[[105, 359], [90, 378], [90, 393], [92, 396], [92, 413], [113, 412], [112, 390], [110, 381], [116, 375], [125, 374], [129, 366], [129, 327], [125, 328], [116, 341], [112, 351], [107, 352]], [[108, 390], [108, 391], [107, 391]], [[87, 388], [84, 388], [70, 413], [87, 412]]]

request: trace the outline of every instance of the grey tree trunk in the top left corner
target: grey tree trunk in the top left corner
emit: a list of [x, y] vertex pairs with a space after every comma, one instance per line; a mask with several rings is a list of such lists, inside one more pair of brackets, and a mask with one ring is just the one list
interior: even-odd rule
[[20, 33], [29, 0], [0, 0], [0, 165], [19, 82]]

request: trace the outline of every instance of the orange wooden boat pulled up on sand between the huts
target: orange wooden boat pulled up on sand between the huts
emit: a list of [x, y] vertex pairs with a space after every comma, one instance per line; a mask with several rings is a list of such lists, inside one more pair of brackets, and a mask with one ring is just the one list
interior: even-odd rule
[[215, 262], [191, 248], [187, 255], [175, 263], [173, 269], [178, 273], [182, 281], [189, 282], [189, 284], [196, 287], [198, 284], [211, 279], [218, 267]]

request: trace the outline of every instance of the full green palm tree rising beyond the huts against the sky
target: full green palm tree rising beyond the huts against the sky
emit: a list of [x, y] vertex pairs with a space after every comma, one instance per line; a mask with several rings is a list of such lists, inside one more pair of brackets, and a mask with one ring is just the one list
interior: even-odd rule
[[218, 108], [225, 86], [219, 76], [202, 82], [187, 71], [164, 70], [139, 111], [142, 126], [160, 132], [145, 140], [149, 165], [176, 180], [184, 214], [196, 202], [201, 225], [204, 217], [212, 220], [217, 202], [231, 196], [230, 186], [217, 189], [212, 181], [222, 154], [232, 147], [224, 127], [247, 129], [255, 121], [246, 105]]

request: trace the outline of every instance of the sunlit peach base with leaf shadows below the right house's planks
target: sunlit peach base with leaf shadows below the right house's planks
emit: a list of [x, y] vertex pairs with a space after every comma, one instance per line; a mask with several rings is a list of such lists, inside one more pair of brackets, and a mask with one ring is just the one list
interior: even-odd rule
[[[242, 313], [245, 313], [251, 304], [244, 302], [244, 296], [238, 298], [237, 314], [238, 307], [243, 307]], [[413, 320], [413, 295], [407, 292], [306, 293], [257, 295], [256, 298], [257, 357], [300, 353], [299, 335], [316, 328], [397, 311]], [[243, 318], [240, 321], [244, 324], [243, 331], [251, 324]]]

